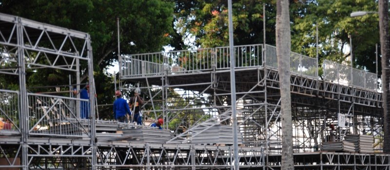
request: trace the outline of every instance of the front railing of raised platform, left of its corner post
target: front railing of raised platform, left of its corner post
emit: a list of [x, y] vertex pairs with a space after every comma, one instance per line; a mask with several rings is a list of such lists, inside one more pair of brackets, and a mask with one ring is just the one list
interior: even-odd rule
[[[263, 45], [234, 46], [235, 68], [262, 66]], [[123, 77], [159, 76], [230, 68], [229, 47], [121, 56]]]

